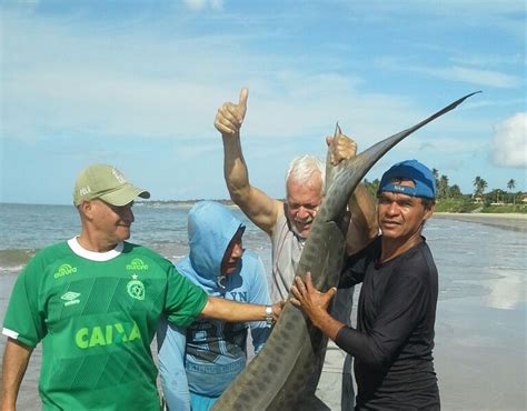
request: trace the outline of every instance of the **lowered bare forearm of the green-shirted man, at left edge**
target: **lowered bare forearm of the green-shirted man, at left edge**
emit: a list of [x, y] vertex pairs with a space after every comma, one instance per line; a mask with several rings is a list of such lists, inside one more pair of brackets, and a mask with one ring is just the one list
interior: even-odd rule
[[6, 343], [2, 365], [2, 411], [14, 410], [32, 349], [11, 338]]

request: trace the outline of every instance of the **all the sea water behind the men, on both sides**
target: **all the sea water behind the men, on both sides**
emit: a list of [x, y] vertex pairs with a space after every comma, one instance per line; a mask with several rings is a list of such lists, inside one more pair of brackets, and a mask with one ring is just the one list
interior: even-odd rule
[[[189, 206], [137, 204], [130, 241], [177, 261], [188, 252]], [[270, 243], [237, 208], [247, 225], [243, 245], [258, 252], [270, 271]], [[34, 252], [79, 232], [72, 206], [0, 204], [0, 272], [17, 272]], [[425, 227], [439, 270], [439, 299], [479, 295], [491, 307], [525, 303], [527, 234], [449, 219]]]

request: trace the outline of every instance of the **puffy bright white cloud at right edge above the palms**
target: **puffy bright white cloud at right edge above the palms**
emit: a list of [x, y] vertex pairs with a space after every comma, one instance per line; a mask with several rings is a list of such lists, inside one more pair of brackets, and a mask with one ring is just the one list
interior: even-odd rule
[[519, 112], [496, 126], [493, 162], [501, 167], [527, 167], [527, 112]]

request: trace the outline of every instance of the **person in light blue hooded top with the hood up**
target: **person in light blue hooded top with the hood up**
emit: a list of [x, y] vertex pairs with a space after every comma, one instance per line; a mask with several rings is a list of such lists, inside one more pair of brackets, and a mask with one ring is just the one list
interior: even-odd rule
[[[242, 249], [245, 225], [226, 207], [198, 202], [189, 212], [190, 253], [178, 271], [209, 295], [270, 304], [264, 264]], [[208, 410], [245, 369], [247, 335], [258, 353], [270, 333], [271, 320], [226, 323], [199, 319], [187, 329], [162, 321], [158, 329], [159, 371], [169, 410]]]

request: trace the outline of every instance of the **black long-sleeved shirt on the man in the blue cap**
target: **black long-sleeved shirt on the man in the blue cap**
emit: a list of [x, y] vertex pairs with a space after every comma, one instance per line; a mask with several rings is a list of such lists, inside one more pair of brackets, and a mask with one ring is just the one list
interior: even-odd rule
[[434, 371], [437, 269], [422, 242], [387, 261], [380, 237], [348, 259], [340, 288], [362, 282], [357, 330], [336, 343], [355, 357], [357, 409], [439, 409]]

